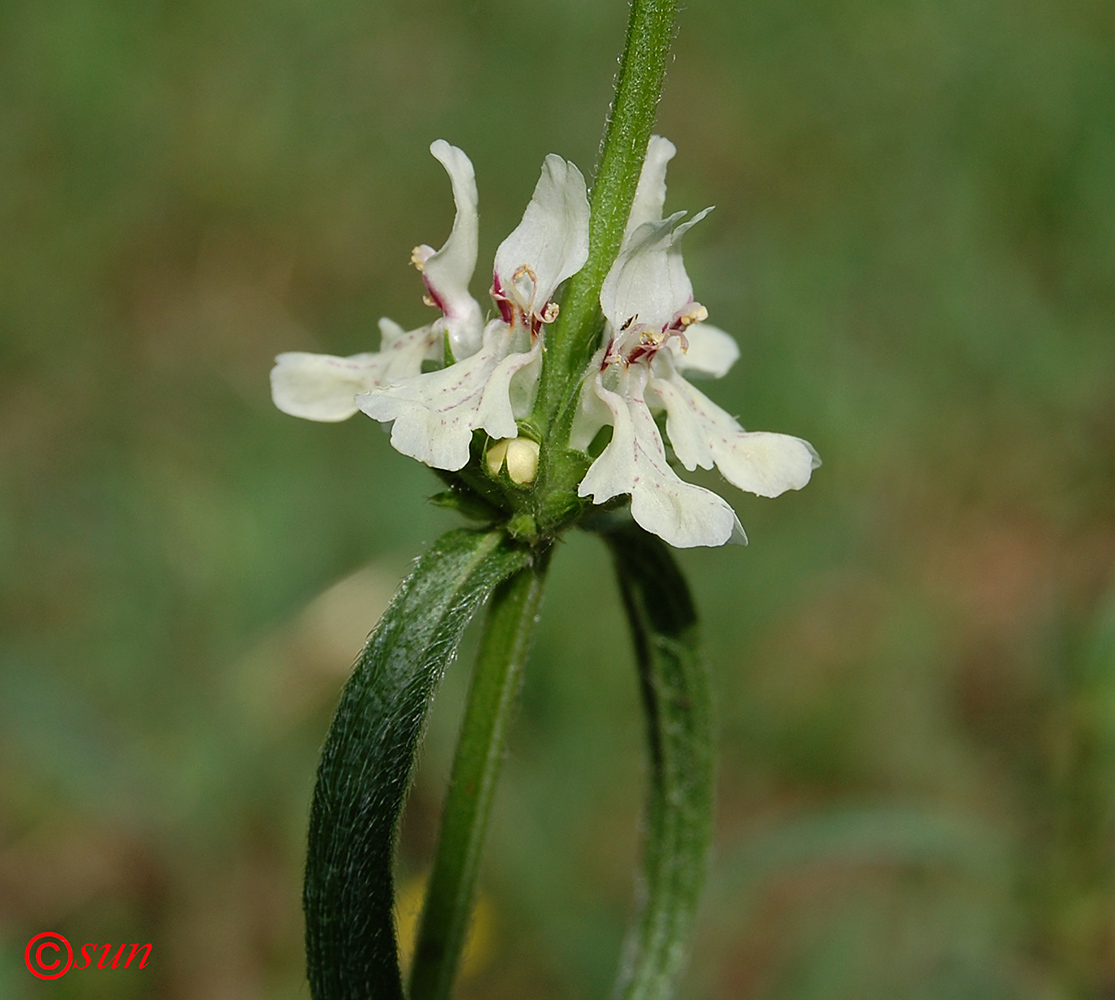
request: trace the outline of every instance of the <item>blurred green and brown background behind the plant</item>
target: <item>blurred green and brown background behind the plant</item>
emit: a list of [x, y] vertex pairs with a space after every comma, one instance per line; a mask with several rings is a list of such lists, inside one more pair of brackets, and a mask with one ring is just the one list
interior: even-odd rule
[[[454, 518], [370, 421], [275, 410], [268, 371], [428, 321], [432, 139], [476, 165], [482, 262], [544, 154], [588, 174], [626, 14], [0, 6], [3, 998], [308, 996], [317, 749]], [[725, 487], [750, 547], [680, 555], [723, 747], [683, 996], [1115, 996], [1115, 7], [697, 0], [659, 130], [668, 207], [717, 206], [687, 260], [743, 352], [704, 388], [825, 460], [775, 502]], [[640, 739], [607, 560], [571, 536], [463, 998], [605, 994]], [[152, 963], [39, 982], [46, 930]]]

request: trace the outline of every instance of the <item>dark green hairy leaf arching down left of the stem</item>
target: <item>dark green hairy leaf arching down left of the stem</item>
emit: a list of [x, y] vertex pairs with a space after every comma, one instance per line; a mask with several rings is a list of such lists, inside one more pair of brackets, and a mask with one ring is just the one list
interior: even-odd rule
[[392, 856], [434, 690], [477, 608], [530, 553], [502, 532], [444, 535], [357, 659], [318, 768], [306, 863], [314, 1000], [403, 1000]]

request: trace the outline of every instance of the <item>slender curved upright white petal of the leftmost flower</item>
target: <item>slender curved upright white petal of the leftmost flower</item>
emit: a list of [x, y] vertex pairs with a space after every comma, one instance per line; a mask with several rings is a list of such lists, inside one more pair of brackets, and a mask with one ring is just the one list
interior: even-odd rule
[[423, 280], [430, 298], [445, 314], [454, 356], [465, 358], [481, 346], [484, 329], [479, 303], [468, 292], [468, 282], [476, 269], [476, 175], [464, 152], [445, 139], [433, 143], [429, 152], [449, 175], [457, 214], [449, 237], [440, 250], [426, 259]]

